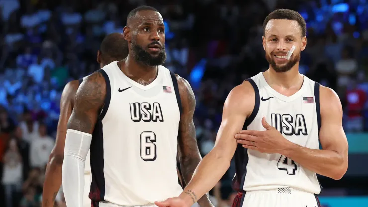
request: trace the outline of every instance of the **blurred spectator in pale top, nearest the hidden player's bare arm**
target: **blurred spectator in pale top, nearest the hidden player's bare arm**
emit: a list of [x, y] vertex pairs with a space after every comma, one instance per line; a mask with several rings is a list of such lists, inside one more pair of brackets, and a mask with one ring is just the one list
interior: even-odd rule
[[39, 135], [34, 136], [31, 142], [30, 161], [32, 168], [44, 169], [54, 143], [54, 139], [47, 135], [46, 125], [41, 123]]

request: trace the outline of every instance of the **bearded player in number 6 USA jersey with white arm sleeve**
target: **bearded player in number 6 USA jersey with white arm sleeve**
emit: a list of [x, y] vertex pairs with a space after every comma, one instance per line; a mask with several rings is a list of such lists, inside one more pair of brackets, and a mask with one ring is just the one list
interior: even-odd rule
[[[193, 91], [185, 79], [162, 66], [166, 53], [161, 14], [138, 7], [128, 14], [123, 31], [128, 57], [88, 76], [76, 93], [62, 169], [70, 207], [83, 203], [89, 149], [93, 207], [153, 207], [158, 199], [179, 196], [177, 146], [186, 181], [201, 160]], [[198, 203], [213, 207], [207, 195]]]

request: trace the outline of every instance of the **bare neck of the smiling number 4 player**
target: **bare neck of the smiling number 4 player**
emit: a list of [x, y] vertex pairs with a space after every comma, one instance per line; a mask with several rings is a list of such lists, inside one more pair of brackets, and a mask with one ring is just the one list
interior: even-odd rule
[[281, 87], [283, 89], [300, 89], [304, 77], [299, 73], [299, 64], [295, 64], [291, 70], [286, 72], [276, 72], [271, 66], [264, 73], [267, 83], [271, 87]]

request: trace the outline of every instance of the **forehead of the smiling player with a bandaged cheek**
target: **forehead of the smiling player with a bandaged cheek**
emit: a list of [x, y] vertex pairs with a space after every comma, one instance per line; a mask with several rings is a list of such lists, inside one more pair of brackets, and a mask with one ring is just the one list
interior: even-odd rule
[[297, 21], [288, 19], [271, 19], [265, 27], [265, 36], [288, 36], [301, 33], [301, 28]]

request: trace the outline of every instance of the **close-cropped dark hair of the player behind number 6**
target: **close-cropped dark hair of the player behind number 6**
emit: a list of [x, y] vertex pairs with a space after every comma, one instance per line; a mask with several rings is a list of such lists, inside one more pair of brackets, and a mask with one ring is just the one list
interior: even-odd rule
[[121, 33], [107, 35], [101, 43], [99, 51], [105, 59], [123, 60], [128, 56], [128, 42]]

